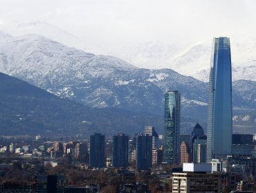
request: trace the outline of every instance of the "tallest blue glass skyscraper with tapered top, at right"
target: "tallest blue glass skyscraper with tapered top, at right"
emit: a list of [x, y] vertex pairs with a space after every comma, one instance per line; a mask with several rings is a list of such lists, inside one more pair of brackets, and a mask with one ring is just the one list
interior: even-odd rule
[[214, 38], [210, 61], [207, 162], [232, 153], [232, 78], [230, 40]]

